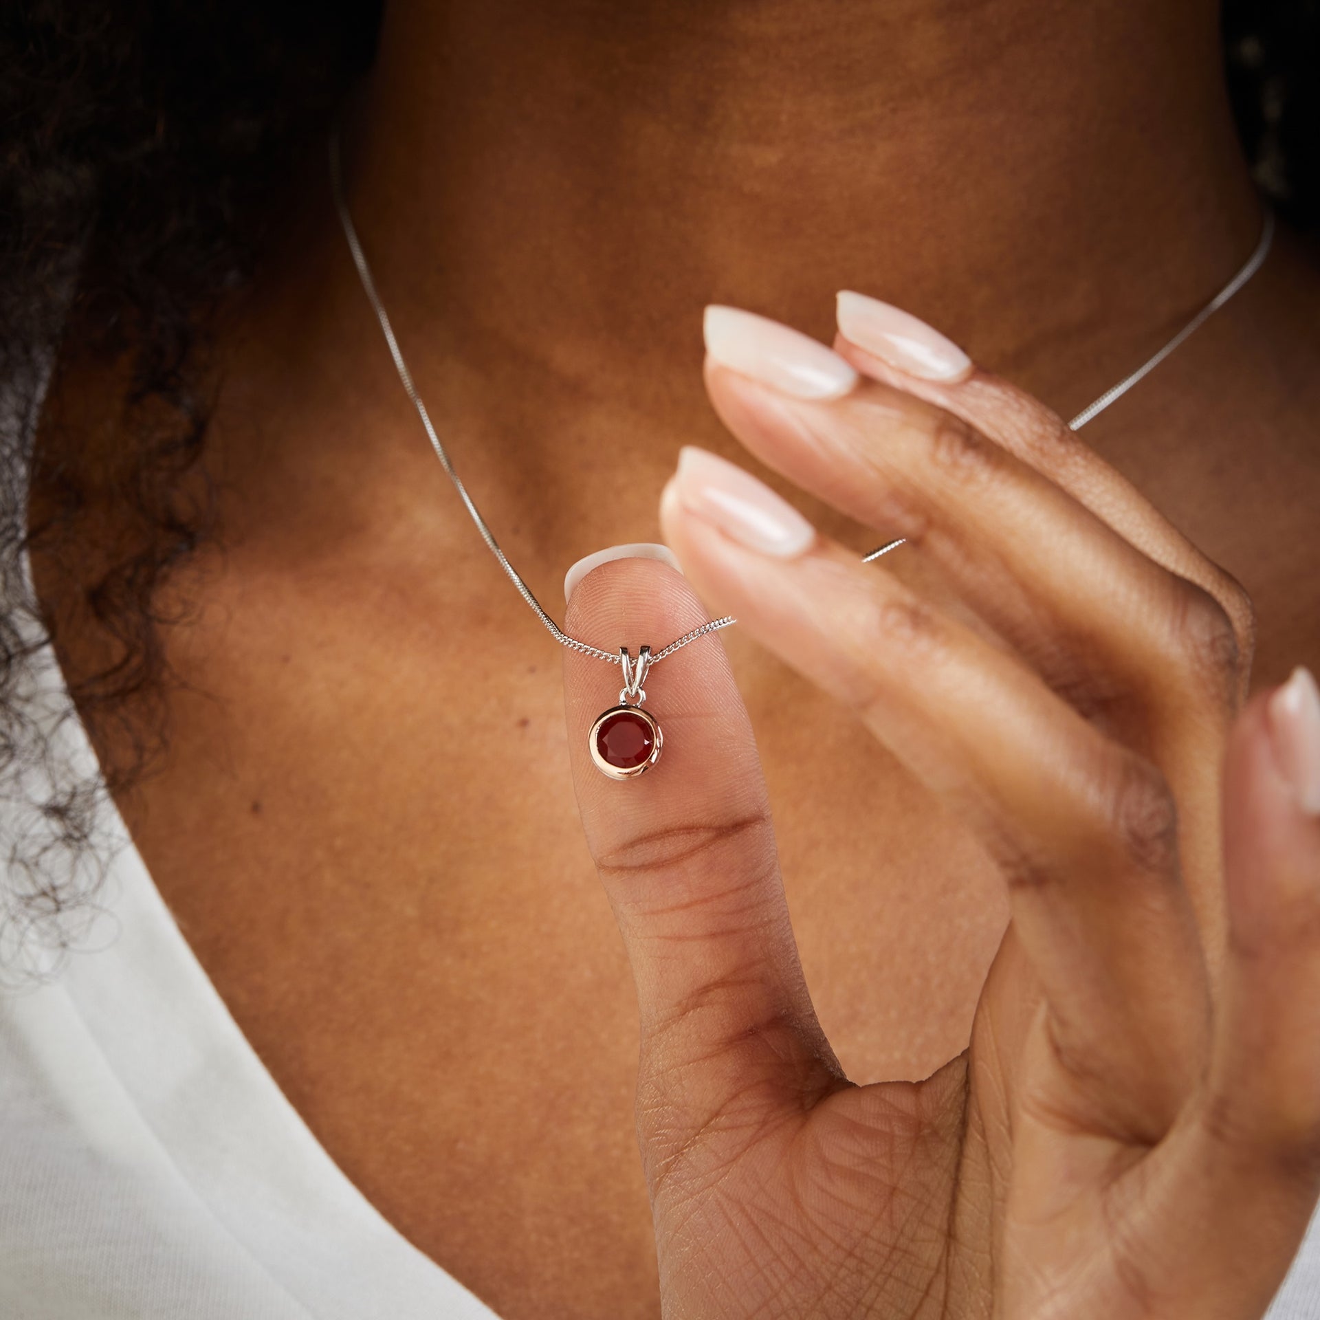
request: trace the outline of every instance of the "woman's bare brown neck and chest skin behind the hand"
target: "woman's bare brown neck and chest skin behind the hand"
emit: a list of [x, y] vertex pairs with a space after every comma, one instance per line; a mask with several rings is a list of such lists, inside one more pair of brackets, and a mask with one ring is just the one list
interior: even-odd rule
[[[397, 0], [348, 147], [437, 425], [556, 610], [568, 564], [659, 536], [680, 444], [737, 451], [702, 388], [704, 304], [828, 341], [833, 292], [871, 292], [1067, 414], [1258, 224], [1200, 0], [553, 21]], [[308, 170], [219, 345], [224, 553], [178, 579], [201, 614], [169, 634], [195, 692], [170, 700], [168, 768], [120, 805], [248, 1039], [403, 1233], [508, 1320], [653, 1316], [635, 995], [582, 842], [560, 657], [436, 466]], [[1086, 432], [1246, 585], [1257, 684], [1320, 655], [1317, 306], [1280, 242]], [[74, 444], [112, 388], [66, 372], [53, 416]], [[107, 499], [66, 552], [74, 579], [115, 527]], [[37, 569], [82, 672], [98, 639]], [[895, 572], [944, 598], [920, 558]], [[968, 1041], [999, 874], [847, 711], [746, 635], [727, 648], [820, 1020], [854, 1078], [923, 1077]]]

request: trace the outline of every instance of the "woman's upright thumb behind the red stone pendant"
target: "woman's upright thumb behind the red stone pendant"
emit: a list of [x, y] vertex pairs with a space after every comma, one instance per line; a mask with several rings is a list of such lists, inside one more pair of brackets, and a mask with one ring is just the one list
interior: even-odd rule
[[[630, 554], [573, 586], [565, 626], [636, 656], [708, 618], [675, 568]], [[647, 675], [661, 755], [634, 779], [607, 777], [590, 748], [597, 718], [618, 704], [620, 668], [565, 651], [564, 678], [587, 846], [638, 990], [639, 1131], [655, 1191], [713, 1114], [789, 1097], [800, 1113], [804, 1092], [832, 1089], [840, 1072], [803, 979], [760, 760], [719, 638], [700, 638]]]

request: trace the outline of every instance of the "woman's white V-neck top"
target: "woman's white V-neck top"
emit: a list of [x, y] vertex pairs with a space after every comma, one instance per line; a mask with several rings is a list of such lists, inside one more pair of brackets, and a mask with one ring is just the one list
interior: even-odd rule
[[[98, 772], [49, 649], [24, 704]], [[104, 810], [96, 948], [0, 993], [0, 1316], [492, 1320], [317, 1143]], [[0, 801], [7, 833], [20, 813]], [[1320, 1320], [1315, 1225], [1270, 1317]]]

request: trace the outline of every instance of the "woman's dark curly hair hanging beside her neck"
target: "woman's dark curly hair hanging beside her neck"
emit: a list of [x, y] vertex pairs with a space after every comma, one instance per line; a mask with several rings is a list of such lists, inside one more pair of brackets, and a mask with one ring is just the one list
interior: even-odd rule
[[[112, 713], [165, 690], [160, 589], [209, 533], [185, 480], [206, 438], [209, 322], [251, 280], [268, 199], [370, 65], [380, 15], [381, 0], [33, 0], [0, 17], [0, 966], [75, 937], [67, 915], [106, 859], [100, 796], [156, 747], [137, 721], [125, 763], [67, 774], [20, 701], [44, 640], [25, 552], [84, 498], [75, 471], [44, 471], [58, 499], [29, 529], [42, 381], [61, 346], [114, 360], [137, 441], [120, 482], [141, 536], [86, 602], [115, 653], [73, 693]], [[1257, 178], [1315, 228], [1320, 0], [1226, 0], [1224, 34]]]

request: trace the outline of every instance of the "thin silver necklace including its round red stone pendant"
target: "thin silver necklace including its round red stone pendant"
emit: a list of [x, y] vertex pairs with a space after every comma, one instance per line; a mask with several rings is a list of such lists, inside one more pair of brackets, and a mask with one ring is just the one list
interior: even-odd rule
[[[541, 620], [546, 631], [554, 638], [561, 647], [568, 647], [570, 651], [578, 651], [585, 656], [591, 656], [594, 660], [605, 660], [607, 664], [620, 665], [623, 669], [623, 688], [619, 692], [619, 704], [611, 706], [609, 710], [603, 711], [597, 717], [595, 722], [591, 725], [591, 731], [587, 735], [587, 742], [591, 752], [591, 760], [595, 763], [597, 768], [607, 775], [610, 779], [634, 779], [635, 776], [649, 770], [660, 759], [660, 748], [663, 744], [663, 733], [660, 729], [660, 722], [651, 714], [649, 710], [643, 710], [642, 704], [647, 700], [645, 689], [642, 686], [645, 682], [647, 673], [652, 665], [659, 664], [661, 660], [672, 656], [676, 651], [681, 651], [685, 645], [696, 642], [698, 638], [704, 638], [708, 632], [715, 632], [719, 628], [727, 628], [729, 624], [737, 620], [731, 614], [726, 614], [719, 619], [709, 619], [702, 623], [700, 628], [693, 628], [690, 632], [685, 632], [681, 638], [671, 642], [667, 647], [661, 647], [659, 651], [651, 651], [651, 647], [642, 647], [636, 659], [631, 656], [627, 647], [620, 647], [618, 652], [602, 651], [599, 647], [593, 647], [586, 642], [579, 642], [577, 638], [570, 638], [550, 616], [545, 612], [541, 602], [536, 599], [532, 589], [523, 581], [517, 569], [510, 564], [508, 557], [499, 548], [499, 543], [495, 540], [495, 535], [491, 532], [490, 527], [486, 524], [486, 519], [482, 517], [480, 510], [477, 507], [471, 495], [467, 494], [467, 487], [463, 486], [458, 471], [454, 467], [453, 459], [449, 457], [449, 451], [445, 449], [438, 434], [436, 434], [436, 428], [432, 425], [430, 414], [426, 412], [426, 405], [422, 403], [421, 395], [417, 392], [417, 387], [413, 383], [412, 372], [408, 370], [408, 363], [404, 360], [403, 350], [399, 347], [399, 341], [395, 338], [393, 326], [389, 322], [389, 314], [385, 312], [385, 305], [380, 300], [380, 293], [376, 289], [376, 281], [372, 279], [371, 267], [367, 264], [366, 253], [362, 249], [362, 243], [358, 239], [358, 231], [352, 223], [352, 215], [348, 213], [348, 203], [343, 193], [343, 174], [339, 164], [339, 135], [333, 132], [330, 135], [330, 186], [334, 193], [335, 210], [339, 213], [339, 223], [343, 226], [343, 235], [348, 240], [348, 251], [352, 253], [352, 264], [358, 268], [358, 276], [362, 280], [362, 288], [367, 294], [367, 300], [371, 302], [372, 310], [376, 313], [376, 319], [380, 322], [381, 333], [385, 337], [385, 343], [389, 346], [389, 355], [393, 358], [395, 370], [399, 372], [399, 379], [403, 383], [404, 392], [408, 395], [413, 408], [417, 409], [417, 416], [421, 418], [424, 430], [426, 432], [426, 438], [430, 441], [430, 447], [436, 451], [436, 457], [440, 459], [441, 466], [445, 469], [445, 474], [454, 483], [454, 490], [458, 491], [458, 498], [463, 502], [463, 507], [467, 510], [473, 521], [477, 524], [477, 531], [482, 533], [482, 540], [486, 541], [490, 548], [491, 554], [495, 556], [499, 566], [504, 570], [506, 577], [517, 589], [519, 595], [532, 607], [532, 612]], [[1138, 381], [1143, 380], [1150, 372], [1152, 372], [1175, 348], [1179, 347], [1185, 339], [1188, 339], [1196, 330], [1199, 330], [1220, 308], [1224, 306], [1229, 298], [1233, 297], [1238, 289], [1242, 288], [1255, 275], [1257, 271], [1265, 264], [1265, 259], [1269, 255], [1270, 244], [1274, 240], [1274, 213], [1266, 211], [1265, 223], [1261, 228], [1261, 239], [1255, 246], [1255, 251], [1247, 257], [1246, 264], [1242, 267], [1237, 275], [1224, 285], [1222, 289], [1204, 306], [1200, 312], [1192, 317], [1191, 321], [1183, 326], [1181, 330], [1173, 335], [1168, 343], [1164, 345], [1156, 354], [1142, 363], [1130, 376], [1125, 376], [1117, 385], [1106, 389], [1093, 404], [1084, 408], [1068, 426], [1071, 430], [1081, 430], [1086, 422], [1098, 417], [1111, 403], [1121, 399], [1133, 388]], [[870, 554], [862, 556], [863, 564], [870, 564], [878, 560], [882, 554], [888, 554], [890, 550], [898, 549], [904, 544], [904, 539], [899, 537], [896, 541], [888, 541], [884, 545], [878, 546], [871, 550]]]

